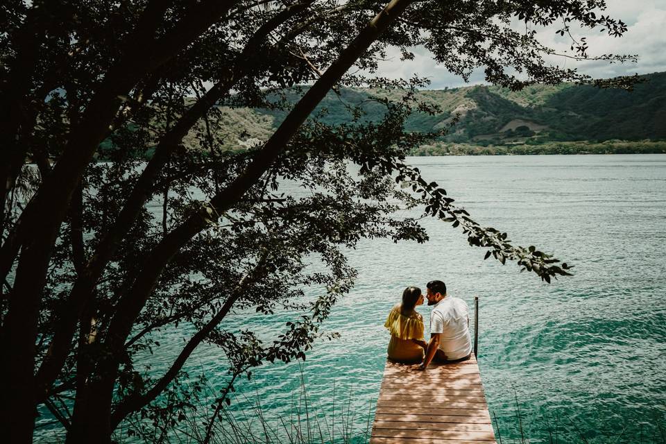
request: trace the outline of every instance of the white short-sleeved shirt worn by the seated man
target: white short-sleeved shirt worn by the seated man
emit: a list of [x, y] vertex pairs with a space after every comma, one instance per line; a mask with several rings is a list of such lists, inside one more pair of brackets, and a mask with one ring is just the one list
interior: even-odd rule
[[461, 298], [446, 296], [432, 308], [430, 333], [440, 333], [439, 348], [446, 359], [460, 359], [472, 352], [470, 309]]

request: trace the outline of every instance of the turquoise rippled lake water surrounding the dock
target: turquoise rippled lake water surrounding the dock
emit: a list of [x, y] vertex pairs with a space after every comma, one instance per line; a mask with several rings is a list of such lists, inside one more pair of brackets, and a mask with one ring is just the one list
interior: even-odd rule
[[[651, 443], [661, 433], [658, 424], [666, 427], [666, 155], [409, 162], [479, 223], [573, 264], [574, 276], [545, 284], [518, 273], [515, 264], [484, 261], [485, 250], [470, 248], [459, 229], [435, 220], [425, 221], [431, 237], [425, 245], [364, 241], [348, 253], [359, 271], [355, 288], [324, 325], [339, 339], [316, 343], [302, 366], [255, 369], [251, 381], [237, 384], [231, 409], [253, 416], [259, 401], [277, 425], [278, 415], [289, 417], [302, 401], [302, 370], [310, 408], [337, 409], [339, 437], [344, 413], [352, 412], [345, 427], [361, 442], [382, 379], [386, 314], [404, 287], [441, 279], [470, 306], [479, 296], [479, 366], [505, 442], [520, 436], [518, 400], [531, 443], [549, 442], [548, 421], [553, 432], [557, 422], [561, 443], [583, 442], [581, 434], [589, 443]], [[419, 311], [429, 314], [425, 306]], [[225, 327], [248, 327], [269, 339], [287, 320], [240, 312]], [[149, 359], [155, 371], [186, 334], [161, 341], [162, 350]], [[214, 348], [199, 350], [189, 372], [205, 373], [212, 390], [226, 378]], [[426, 410], [427, 404], [405, 408]]]

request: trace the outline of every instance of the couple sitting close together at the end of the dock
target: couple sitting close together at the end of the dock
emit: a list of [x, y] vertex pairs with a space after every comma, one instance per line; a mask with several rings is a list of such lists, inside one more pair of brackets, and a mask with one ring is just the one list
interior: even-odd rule
[[405, 364], [421, 363], [425, 370], [431, 361], [454, 363], [470, 359], [470, 310], [460, 298], [447, 296], [446, 285], [441, 280], [427, 284], [428, 305], [434, 305], [430, 313], [430, 341], [423, 339], [423, 316], [416, 306], [423, 303], [418, 287], [407, 287], [402, 292], [402, 303], [388, 314], [384, 327], [391, 332], [388, 343], [388, 359]]

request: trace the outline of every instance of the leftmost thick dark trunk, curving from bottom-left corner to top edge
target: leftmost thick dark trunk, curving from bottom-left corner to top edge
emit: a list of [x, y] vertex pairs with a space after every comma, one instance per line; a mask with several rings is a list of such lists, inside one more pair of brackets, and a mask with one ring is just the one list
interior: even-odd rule
[[[160, 2], [153, 0], [150, 4], [158, 3]], [[22, 254], [8, 314], [0, 332], [0, 347], [8, 363], [2, 367], [0, 379], [12, 382], [0, 400], [0, 429], [12, 437], [12, 442], [32, 441], [36, 399], [33, 372], [37, 321], [40, 296], [46, 282], [46, 269], [53, 244], [74, 189], [80, 182], [85, 167], [92, 160], [97, 146], [102, 142], [106, 128], [114, 120], [119, 96], [127, 94], [148, 72], [160, 67], [185, 48], [234, 3], [234, 0], [207, 0], [198, 3], [191, 7], [189, 15], [176, 25], [173, 33], [157, 41], [153, 40], [152, 33], [144, 34], [144, 28], [130, 36], [126, 57], [105, 76], [97, 94], [87, 105], [79, 125], [72, 130], [60, 160], [24, 210], [22, 223], [17, 231], [17, 234], [20, 234], [18, 244], [22, 245]], [[157, 8], [159, 9], [158, 6]], [[157, 15], [153, 15], [151, 19], [157, 19]], [[161, 22], [162, 17], [159, 19]], [[137, 35], [143, 38], [134, 40], [133, 37]], [[6, 253], [4, 250], [3, 248], [2, 253]], [[3, 262], [8, 262], [8, 258], [2, 259]], [[101, 398], [99, 400], [101, 401]], [[108, 414], [103, 417], [108, 422]]]

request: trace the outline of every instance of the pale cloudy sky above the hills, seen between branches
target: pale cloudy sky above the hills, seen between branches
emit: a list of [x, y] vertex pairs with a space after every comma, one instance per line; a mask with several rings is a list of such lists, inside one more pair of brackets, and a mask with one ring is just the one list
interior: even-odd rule
[[[636, 54], [638, 62], [577, 62], [555, 56], [549, 61], [554, 65], [577, 68], [595, 78], [666, 71], [666, 0], [607, 0], [606, 3], [608, 8], [602, 13], [622, 20], [629, 28], [622, 37], [610, 37], [606, 33], [600, 33], [598, 28], [590, 31], [577, 26], [572, 26], [572, 34], [574, 37], [588, 37], [589, 56], [608, 53]], [[517, 22], [517, 25], [524, 26], [522, 22]], [[555, 34], [558, 27], [535, 29], [543, 44], [559, 51], [568, 50], [570, 40]], [[445, 67], [436, 65], [426, 49], [416, 48], [412, 49], [412, 52], [415, 55], [414, 60], [402, 62], [399, 52], [391, 51], [387, 60], [380, 62], [379, 73], [388, 78], [411, 78], [418, 73], [429, 78], [430, 89], [485, 83], [482, 70], [475, 71], [470, 77], [470, 83], [465, 83], [459, 76], [450, 74]]]

